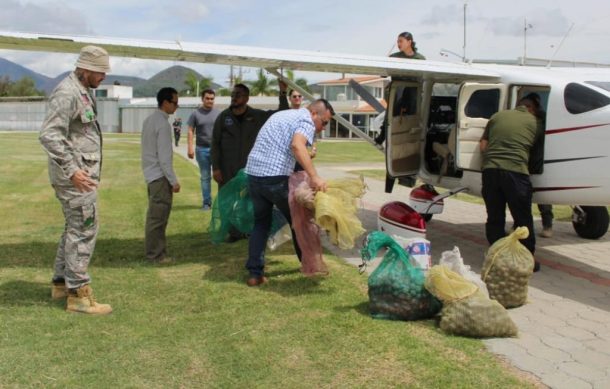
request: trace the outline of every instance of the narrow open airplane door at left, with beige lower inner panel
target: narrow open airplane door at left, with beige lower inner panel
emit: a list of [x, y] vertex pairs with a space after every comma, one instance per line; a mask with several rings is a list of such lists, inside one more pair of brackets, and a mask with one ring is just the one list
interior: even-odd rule
[[417, 174], [422, 139], [421, 84], [392, 81], [386, 113], [386, 167], [392, 177]]

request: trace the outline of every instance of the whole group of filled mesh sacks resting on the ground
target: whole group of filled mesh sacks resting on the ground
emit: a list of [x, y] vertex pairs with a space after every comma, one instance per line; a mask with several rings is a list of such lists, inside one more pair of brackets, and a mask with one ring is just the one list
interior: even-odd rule
[[418, 320], [438, 314], [440, 328], [449, 334], [516, 336], [517, 326], [506, 309], [521, 306], [527, 299], [534, 258], [519, 242], [527, 234], [526, 227], [519, 227], [494, 243], [479, 277], [464, 265], [457, 247], [445, 251], [439, 265], [424, 272], [391, 237], [372, 232], [362, 249], [364, 263], [379, 249], [388, 251], [369, 277], [371, 315]]

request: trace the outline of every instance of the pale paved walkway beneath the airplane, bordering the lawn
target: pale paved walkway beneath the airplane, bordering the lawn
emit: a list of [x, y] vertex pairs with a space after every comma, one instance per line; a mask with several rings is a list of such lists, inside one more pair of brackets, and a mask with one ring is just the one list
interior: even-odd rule
[[[177, 151], [186, 154], [184, 146]], [[359, 168], [384, 166], [318, 166], [325, 178]], [[365, 181], [368, 192], [359, 217], [365, 229], [372, 231], [377, 229], [381, 205], [406, 202], [409, 189], [397, 185], [392, 194], [386, 194], [383, 182]], [[443, 251], [458, 246], [466, 264], [479, 272], [488, 246], [485, 218], [482, 205], [446, 199], [444, 212], [427, 226], [433, 262]], [[541, 228], [539, 220], [536, 227]], [[360, 247], [349, 251], [326, 247], [350, 263], [361, 263]], [[532, 276], [528, 304], [509, 311], [519, 336], [484, 343], [552, 388], [610, 388], [610, 234], [588, 241], [576, 235], [571, 223], [556, 222], [553, 238], [537, 239], [536, 258], [542, 270]]]

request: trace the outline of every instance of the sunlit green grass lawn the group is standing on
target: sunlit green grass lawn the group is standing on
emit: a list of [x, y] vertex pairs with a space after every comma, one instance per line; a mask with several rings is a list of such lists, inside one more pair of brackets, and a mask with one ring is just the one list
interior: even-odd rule
[[248, 288], [246, 242], [210, 243], [198, 169], [180, 157], [168, 228], [177, 262], [149, 265], [138, 137], [104, 145], [90, 272], [114, 312], [92, 317], [50, 299], [63, 219], [36, 134], [0, 133], [0, 387], [531, 386], [434, 321], [371, 319], [366, 276], [330, 254], [331, 275], [306, 278], [285, 245], [267, 256], [269, 284]]

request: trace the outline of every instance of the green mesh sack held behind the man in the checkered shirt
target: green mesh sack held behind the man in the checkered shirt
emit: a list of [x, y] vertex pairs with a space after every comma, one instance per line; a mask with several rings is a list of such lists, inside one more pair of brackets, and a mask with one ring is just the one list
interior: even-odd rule
[[[273, 208], [270, 235], [285, 224], [284, 215], [278, 209]], [[254, 228], [254, 205], [248, 193], [248, 175], [244, 169], [238, 171], [235, 177], [223, 185], [216, 195], [208, 227], [212, 242], [224, 242], [231, 227], [244, 234], [249, 234]]]

